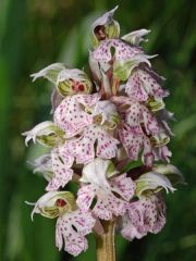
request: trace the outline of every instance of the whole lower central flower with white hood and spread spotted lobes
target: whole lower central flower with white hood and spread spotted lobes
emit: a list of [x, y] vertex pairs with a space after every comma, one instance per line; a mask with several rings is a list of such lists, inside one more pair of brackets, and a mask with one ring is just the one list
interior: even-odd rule
[[113, 214], [122, 215], [135, 190], [134, 183], [126, 174], [112, 177], [118, 172], [111, 166], [111, 161], [99, 158], [84, 166], [81, 178], [84, 185], [79, 188], [76, 200], [77, 206], [87, 211], [96, 198], [93, 212], [102, 220], [110, 220]]

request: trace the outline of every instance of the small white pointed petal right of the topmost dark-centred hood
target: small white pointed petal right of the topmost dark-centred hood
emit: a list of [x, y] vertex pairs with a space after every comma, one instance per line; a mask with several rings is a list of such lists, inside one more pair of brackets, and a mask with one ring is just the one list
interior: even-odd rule
[[150, 30], [147, 29], [139, 29], [134, 30], [127, 35], [124, 35], [121, 37], [122, 40], [125, 40], [128, 44], [138, 46], [142, 41], [148, 41], [147, 39], [144, 39], [143, 37], [148, 35]]

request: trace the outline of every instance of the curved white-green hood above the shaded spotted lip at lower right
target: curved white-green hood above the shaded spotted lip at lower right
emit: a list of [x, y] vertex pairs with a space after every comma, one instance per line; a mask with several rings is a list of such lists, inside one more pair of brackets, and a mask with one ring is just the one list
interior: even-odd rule
[[159, 191], [161, 188], [164, 188], [167, 192], [175, 190], [167, 176], [155, 171], [139, 176], [136, 181], [136, 195], [138, 197], [149, 190]]

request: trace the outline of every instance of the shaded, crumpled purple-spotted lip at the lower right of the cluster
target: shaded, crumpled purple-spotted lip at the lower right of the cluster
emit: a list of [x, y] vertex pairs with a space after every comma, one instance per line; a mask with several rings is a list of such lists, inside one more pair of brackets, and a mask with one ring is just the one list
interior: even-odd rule
[[159, 194], [150, 194], [130, 203], [122, 220], [121, 234], [127, 240], [142, 238], [147, 233], [159, 233], [166, 224], [166, 204]]

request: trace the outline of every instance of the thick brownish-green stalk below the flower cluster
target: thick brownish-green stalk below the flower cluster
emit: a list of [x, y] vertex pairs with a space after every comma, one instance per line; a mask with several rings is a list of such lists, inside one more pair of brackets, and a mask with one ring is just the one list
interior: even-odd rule
[[105, 233], [96, 235], [97, 261], [115, 261], [115, 222], [103, 221]]

